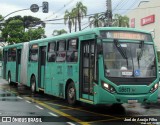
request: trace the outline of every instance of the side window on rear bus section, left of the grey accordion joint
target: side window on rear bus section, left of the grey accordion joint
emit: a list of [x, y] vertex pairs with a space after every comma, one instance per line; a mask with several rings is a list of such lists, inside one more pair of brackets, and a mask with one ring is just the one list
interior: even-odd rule
[[11, 48], [8, 50], [8, 61], [16, 61], [16, 48]]

